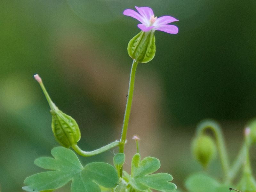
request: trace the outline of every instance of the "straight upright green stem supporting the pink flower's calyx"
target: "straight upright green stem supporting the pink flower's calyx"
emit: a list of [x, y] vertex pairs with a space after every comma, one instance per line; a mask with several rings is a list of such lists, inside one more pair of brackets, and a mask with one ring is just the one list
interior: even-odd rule
[[131, 107], [132, 107], [132, 96], [133, 96], [135, 72], [136, 72], [137, 65], [138, 65], [138, 61], [133, 60], [131, 74], [130, 74], [127, 101], [126, 101], [126, 108], [125, 108], [125, 113], [124, 113], [124, 122], [123, 122], [122, 134], [121, 134], [121, 139], [120, 139], [119, 153], [124, 153], [124, 144], [126, 141], [126, 133], [127, 133], [127, 128], [128, 128]]

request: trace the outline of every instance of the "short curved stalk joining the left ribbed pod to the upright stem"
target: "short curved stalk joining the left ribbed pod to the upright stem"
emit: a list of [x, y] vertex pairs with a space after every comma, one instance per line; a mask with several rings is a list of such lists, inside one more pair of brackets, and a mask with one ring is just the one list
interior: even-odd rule
[[90, 156], [94, 156], [94, 155], [97, 155], [97, 154], [100, 154], [100, 153], [103, 153], [113, 147], [116, 147], [119, 145], [119, 141], [114, 141], [112, 143], [109, 143], [108, 145], [106, 146], [103, 146], [99, 149], [95, 149], [93, 151], [83, 151], [82, 149], [80, 149], [77, 145], [72, 145], [72, 148], [74, 149], [74, 151], [76, 151], [76, 153], [78, 153], [79, 155], [81, 156], [84, 156], [84, 157], [90, 157]]

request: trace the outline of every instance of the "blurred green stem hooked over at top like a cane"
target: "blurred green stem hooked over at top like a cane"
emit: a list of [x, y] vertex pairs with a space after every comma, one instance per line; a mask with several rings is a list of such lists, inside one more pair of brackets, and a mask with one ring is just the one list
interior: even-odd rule
[[222, 169], [226, 176], [226, 182], [229, 182], [230, 176], [229, 176], [229, 172], [228, 172], [228, 170], [229, 170], [228, 153], [226, 150], [224, 139], [222, 137], [222, 131], [220, 129], [220, 125], [215, 121], [205, 120], [197, 126], [196, 134], [200, 135], [206, 129], [211, 129], [212, 132], [214, 133], [214, 136], [216, 138], [217, 148], [218, 148], [219, 154], [220, 154], [220, 162], [222, 165]]

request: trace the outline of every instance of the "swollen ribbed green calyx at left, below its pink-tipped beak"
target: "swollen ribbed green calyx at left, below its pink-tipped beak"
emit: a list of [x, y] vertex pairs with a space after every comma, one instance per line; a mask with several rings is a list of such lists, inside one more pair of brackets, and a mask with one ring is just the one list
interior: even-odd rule
[[60, 145], [66, 148], [76, 145], [81, 138], [81, 133], [75, 119], [57, 107], [51, 110], [51, 114], [52, 132]]

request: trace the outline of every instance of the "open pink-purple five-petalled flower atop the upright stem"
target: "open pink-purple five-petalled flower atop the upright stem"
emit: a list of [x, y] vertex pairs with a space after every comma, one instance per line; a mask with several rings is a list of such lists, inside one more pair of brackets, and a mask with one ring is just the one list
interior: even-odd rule
[[179, 29], [175, 25], [167, 25], [168, 23], [172, 23], [174, 21], [178, 21], [174, 17], [171, 16], [162, 16], [162, 17], [155, 17], [153, 10], [150, 7], [136, 7], [136, 11], [132, 9], [125, 9], [123, 14], [126, 16], [133, 17], [141, 22], [138, 24], [138, 28], [142, 31], [149, 31], [149, 30], [158, 30], [164, 31], [166, 33], [177, 34]]

